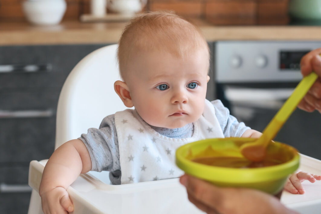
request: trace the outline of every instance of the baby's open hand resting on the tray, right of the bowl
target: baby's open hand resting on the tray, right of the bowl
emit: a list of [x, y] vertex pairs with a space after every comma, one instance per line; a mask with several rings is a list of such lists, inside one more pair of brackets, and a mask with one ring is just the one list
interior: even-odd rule
[[301, 182], [308, 180], [311, 183], [316, 182], [316, 180], [321, 180], [321, 175], [314, 175], [307, 172], [296, 172], [293, 173], [284, 185], [284, 189], [293, 194], [304, 194], [305, 191], [302, 187]]

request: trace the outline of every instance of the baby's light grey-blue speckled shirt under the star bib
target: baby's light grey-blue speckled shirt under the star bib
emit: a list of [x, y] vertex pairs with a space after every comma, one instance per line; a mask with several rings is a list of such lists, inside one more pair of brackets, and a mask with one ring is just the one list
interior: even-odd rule
[[[211, 103], [215, 108], [215, 115], [220, 123], [224, 137], [241, 137], [247, 129], [250, 129], [243, 122], [239, 123], [234, 116], [231, 116], [230, 111], [223, 106], [220, 100], [214, 100]], [[82, 134], [78, 139], [82, 140], [88, 149], [92, 163], [91, 170], [109, 171], [111, 183], [120, 184], [121, 170], [114, 116], [105, 117], [99, 129], [90, 128], [87, 134]], [[151, 127], [158, 133], [172, 138], [191, 137], [194, 132], [192, 123], [176, 129]]]

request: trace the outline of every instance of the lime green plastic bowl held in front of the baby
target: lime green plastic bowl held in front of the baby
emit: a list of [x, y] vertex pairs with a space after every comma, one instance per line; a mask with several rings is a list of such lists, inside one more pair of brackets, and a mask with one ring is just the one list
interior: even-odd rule
[[217, 186], [254, 188], [276, 195], [282, 191], [287, 177], [299, 167], [298, 151], [284, 143], [271, 141], [266, 149], [266, 160], [280, 163], [256, 168], [210, 166], [193, 161], [194, 158], [244, 158], [239, 147], [253, 138], [216, 138], [185, 144], [176, 150], [176, 164], [189, 175]]

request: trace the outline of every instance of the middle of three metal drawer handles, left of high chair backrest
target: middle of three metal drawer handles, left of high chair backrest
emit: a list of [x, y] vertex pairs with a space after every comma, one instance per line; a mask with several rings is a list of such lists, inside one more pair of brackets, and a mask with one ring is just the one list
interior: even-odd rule
[[0, 110], [0, 118], [24, 118], [24, 117], [51, 117], [54, 115], [52, 109], [48, 110]]

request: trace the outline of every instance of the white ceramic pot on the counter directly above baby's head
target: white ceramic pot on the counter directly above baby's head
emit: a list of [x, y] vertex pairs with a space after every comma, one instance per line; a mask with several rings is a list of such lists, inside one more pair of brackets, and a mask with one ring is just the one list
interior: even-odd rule
[[122, 14], [137, 13], [147, 4], [147, 0], [108, 0], [108, 9]]

